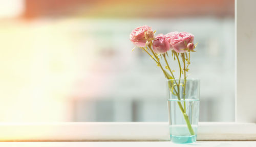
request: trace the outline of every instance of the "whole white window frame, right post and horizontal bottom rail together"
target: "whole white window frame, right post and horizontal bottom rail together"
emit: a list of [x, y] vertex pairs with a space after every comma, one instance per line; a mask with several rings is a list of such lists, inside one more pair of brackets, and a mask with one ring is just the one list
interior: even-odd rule
[[[253, 5], [254, 4], [254, 5]], [[235, 122], [199, 122], [198, 140], [256, 140], [253, 68], [254, 1], [235, 1]], [[246, 8], [246, 9], [245, 9]], [[252, 13], [252, 11], [254, 13]], [[246, 19], [247, 18], [247, 19]], [[251, 26], [248, 24], [252, 24]], [[246, 27], [245, 27], [246, 26]], [[252, 34], [254, 31], [254, 34]], [[248, 39], [249, 34], [249, 39]], [[254, 35], [254, 36], [253, 36]], [[244, 52], [244, 50], [247, 50]], [[248, 54], [248, 50], [249, 53]], [[245, 66], [246, 65], [246, 66]], [[251, 66], [250, 66], [251, 65]], [[246, 82], [253, 81], [253, 82]], [[246, 92], [246, 93], [245, 93]], [[1, 123], [0, 141], [167, 141], [167, 122]]]

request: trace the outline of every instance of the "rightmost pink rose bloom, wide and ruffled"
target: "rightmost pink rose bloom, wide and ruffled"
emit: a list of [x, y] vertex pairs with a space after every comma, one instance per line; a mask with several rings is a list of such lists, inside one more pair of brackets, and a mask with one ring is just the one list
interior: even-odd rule
[[177, 53], [185, 53], [187, 51], [187, 45], [194, 43], [194, 35], [187, 32], [170, 32], [166, 34], [169, 39], [171, 47]]

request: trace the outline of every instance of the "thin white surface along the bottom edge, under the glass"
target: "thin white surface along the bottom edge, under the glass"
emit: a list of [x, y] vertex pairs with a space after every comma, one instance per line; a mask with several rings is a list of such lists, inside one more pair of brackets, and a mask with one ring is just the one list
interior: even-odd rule
[[18, 146], [18, 147], [36, 147], [36, 146], [42, 146], [42, 147], [48, 147], [48, 146], [64, 146], [64, 147], [68, 147], [68, 146], [92, 146], [92, 147], [98, 147], [98, 146], [111, 146], [111, 147], [136, 147], [136, 146], [146, 146], [146, 147], [151, 147], [151, 146], [182, 146], [182, 147], [186, 147], [186, 146], [216, 146], [216, 147], [222, 147], [222, 146], [239, 146], [239, 147], [255, 147], [256, 146], [256, 141], [198, 141], [197, 143], [191, 143], [191, 144], [175, 144], [169, 141], [139, 141], [139, 142], [135, 142], [135, 141], [130, 141], [130, 142], [113, 142], [113, 141], [109, 141], [109, 142], [0, 142], [0, 146], [5, 146], [5, 147], [9, 147], [9, 146]]

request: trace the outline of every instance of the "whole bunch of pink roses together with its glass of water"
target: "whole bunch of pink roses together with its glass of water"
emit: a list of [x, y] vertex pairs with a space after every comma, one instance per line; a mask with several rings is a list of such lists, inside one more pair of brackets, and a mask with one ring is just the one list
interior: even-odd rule
[[[196, 142], [199, 119], [200, 81], [187, 79], [190, 53], [196, 52], [194, 35], [187, 32], [158, 34], [151, 27], [141, 26], [132, 31], [130, 40], [148, 54], [162, 70], [167, 81], [167, 105], [170, 140], [175, 143]], [[169, 54], [171, 55], [168, 55]], [[168, 58], [178, 62], [179, 76], [174, 76]], [[183, 75], [183, 76], [182, 76]]]

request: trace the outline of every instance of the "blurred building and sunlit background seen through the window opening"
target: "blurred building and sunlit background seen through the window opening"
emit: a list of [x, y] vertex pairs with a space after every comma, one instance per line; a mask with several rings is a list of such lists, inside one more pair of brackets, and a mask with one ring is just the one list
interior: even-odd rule
[[233, 121], [234, 0], [0, 0], [0, 121], [167, 121], [161, 70], [131, 52], [145, 24], [195, 35], [200, 121]]

